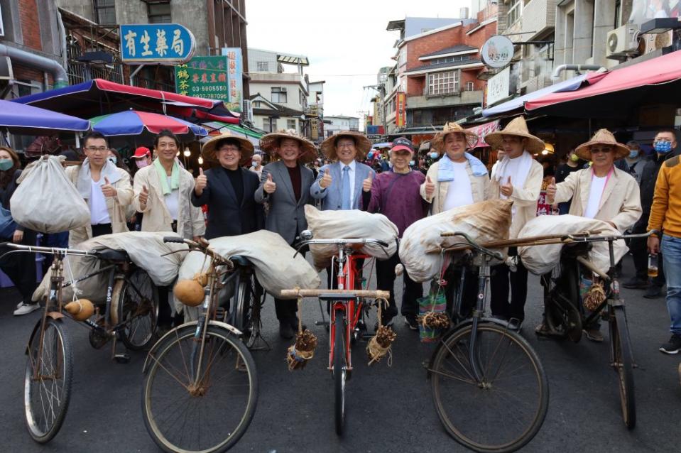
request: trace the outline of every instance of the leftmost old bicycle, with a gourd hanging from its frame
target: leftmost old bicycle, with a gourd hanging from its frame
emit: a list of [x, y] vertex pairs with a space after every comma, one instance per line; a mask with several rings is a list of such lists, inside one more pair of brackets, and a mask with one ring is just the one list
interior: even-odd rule
[[[148, 273], [130, 261], [124, 251], [59, 249], [53, 247], [7, 244], [8, 253], [49, 253], [54, 255], [50, 267], [50, 291], [45, 309], [33, 327], [26, 348], [24, 377], [24, 415], [33, 440], [44, 444], [59, 432], [70, 402], [73, 378], [73, 349], [63, 319], [65, 310], [62, 289], [92, 278], [107, 275], [106, 302], [96, 307], [94, 318], [79, 322], [88, 327], [89, 342], [99, 349], [111, 341], [111, 355], [127, 363], [126, 352], [116, 351], [116, 338], [127, 349], [144, 349], [153, 339], [158, 316], [158, 290]], [[65, 258], [89, 257], [99, 260], [99, 270], [65, 281]]]

